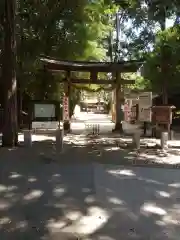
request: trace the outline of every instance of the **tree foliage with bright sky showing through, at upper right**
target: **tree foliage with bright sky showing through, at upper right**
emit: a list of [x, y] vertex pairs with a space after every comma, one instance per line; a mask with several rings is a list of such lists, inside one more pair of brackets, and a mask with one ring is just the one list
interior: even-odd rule
[[125, 21], [121, 31], [127, 40], [121, 43], [124, 55], [127, 58], [141, 58], [144, 53], [151, 51], [155, 44], [158, 30], [164, 31], [166, 19], [174, 18], [178, 23], [180, 16], [180, 2], [176, 0], [116, 0], [120, 6], [121, 15]]

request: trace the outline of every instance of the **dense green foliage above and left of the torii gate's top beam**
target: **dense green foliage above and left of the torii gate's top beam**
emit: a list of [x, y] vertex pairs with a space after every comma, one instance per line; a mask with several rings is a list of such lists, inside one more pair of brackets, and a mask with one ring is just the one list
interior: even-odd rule
[[[104, 60], [104, 40], [114, 6], [103, 0], [20, 0], [17, 14], [17, 77], [32, 98], [59, 99], [61, 76], [39, 72], [41, 54], [63, 60]], [[106, 14], [104, 14], [106, 13]], [[75, 93], [74, 93], [75, 94]]]

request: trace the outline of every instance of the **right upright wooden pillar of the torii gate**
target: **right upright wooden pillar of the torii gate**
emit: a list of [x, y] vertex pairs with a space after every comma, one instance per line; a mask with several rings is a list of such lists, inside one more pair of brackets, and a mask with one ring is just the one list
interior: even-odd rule
[[122, 107], [122, 99], [123, 99], [123, 92], [122, 92], [122, 86], [121, 86], [121, 74], [116, 74], [116, 90], [115, 90], [115, 128], [113, 129], [113, 132], [123, 132], [122, 129], [122, 121], [124, 118], [124, 113], [121, 109]]

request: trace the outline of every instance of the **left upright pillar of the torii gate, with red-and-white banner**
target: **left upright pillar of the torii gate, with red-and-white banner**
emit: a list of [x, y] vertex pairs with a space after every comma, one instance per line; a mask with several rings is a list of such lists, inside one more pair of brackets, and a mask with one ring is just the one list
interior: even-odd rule
[[[70, 124], [70, 104], [69, 104], [69, 96], [70, 96], [70, 84], [67, 79], [67, 82], [64, 83], [64, 99], [66, 99], [66, 103], [63, 102], [63, 128], [66, 132], [70, 132], [71, 124]], [[67, 106], [65, 106], [67, 104]], [[67, 111], [65, 111], [65, 107], [67, 107]]]

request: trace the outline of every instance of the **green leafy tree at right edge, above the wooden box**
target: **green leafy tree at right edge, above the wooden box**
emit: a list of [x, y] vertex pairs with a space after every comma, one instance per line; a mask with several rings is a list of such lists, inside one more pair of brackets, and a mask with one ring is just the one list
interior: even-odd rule
[[161, 71], [162, 49], [164, 49], [168, 89], [174, 90], [180, 87], [180, 26], [160, 32], [156, 38], [154, 51], [147, 55], [144, 77], [150, 80], [152, 89], [156, 91], [161, 90], [164, 80]]

